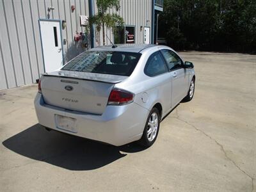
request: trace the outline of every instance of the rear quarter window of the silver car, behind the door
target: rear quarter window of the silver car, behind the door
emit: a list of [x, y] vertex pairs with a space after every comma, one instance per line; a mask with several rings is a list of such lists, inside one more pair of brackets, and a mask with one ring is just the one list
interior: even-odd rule
[[160, 74], [168, 72], [166, 63], [164, 61], [161, 52], [154, 52], [149, 58], [145, 65], [144, 72], [147, 76], [154, 77]]

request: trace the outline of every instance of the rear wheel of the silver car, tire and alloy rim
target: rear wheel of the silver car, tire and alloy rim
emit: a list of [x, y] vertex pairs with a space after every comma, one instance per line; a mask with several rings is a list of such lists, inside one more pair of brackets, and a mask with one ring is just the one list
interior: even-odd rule
[[160, 115], [157, 108], [153, 108], [147, 118], [143, 135], [139, 143], [145, 147], [150, 147], [156, 141], [160, 125]]

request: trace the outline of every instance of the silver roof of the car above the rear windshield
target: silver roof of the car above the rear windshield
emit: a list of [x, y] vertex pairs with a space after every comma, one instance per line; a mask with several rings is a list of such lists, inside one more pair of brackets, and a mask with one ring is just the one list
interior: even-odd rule
[[90, 51], [125, 51], [125, 52], [140, 52], [143, 49], [149, 47], [156, 47], [157, 45], [153, 44], [116, 44], [116, 47], [113, 45], [105, 45], [100, 47], [95, 47], [90, 49]]

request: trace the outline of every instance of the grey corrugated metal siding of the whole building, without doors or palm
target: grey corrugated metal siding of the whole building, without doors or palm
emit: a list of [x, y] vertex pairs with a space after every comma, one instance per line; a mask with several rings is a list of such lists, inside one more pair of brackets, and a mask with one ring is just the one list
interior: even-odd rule
[[[97, 13], [96, 0], [95, 13]], [[121, 9], [109, 10], [118, 13], [125, 20], [125, 25], [135, 26], [135, 42], [143, 43], [143, 29], [151, 28], [152, 0], [120, 0]], [[76, 9], [71, 11], [71, 6]], [[47, 8], [53, 6], [50, 19], [67, 21], [67, 28], [62, 30], [67, 39], [65, 61], [71, 60], [84, 51], [81, 44], [74, 42], [79, 25], [79, 15], [89, 15], [88, 0], [0, 0], [0, 90], [35, 83], [44, 72], [38, 19], [47, 18]], [[113, 41], [113, 33], [106, 33]], [[102, 31], [100, 31], [102, 45]], [[110, 44], [106, 38], [106, 43]], [[90, 44], [89, 44], [90, 45]]]

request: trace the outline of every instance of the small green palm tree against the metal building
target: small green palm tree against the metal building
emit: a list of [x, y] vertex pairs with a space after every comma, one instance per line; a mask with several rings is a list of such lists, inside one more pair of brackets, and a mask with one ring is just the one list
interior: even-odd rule
[[98, 13], [89, 18], [89, 24], [90, 26], [95, 24], [97, 31], [100, 31], [102, 28], [103, 45], [105, 45], [105, 26], [107, 29], [115, 29], [116, 26], [124, 26], [124, 19], [116, 13], [106, 13], [107, 10], [111, 8], [115, 8], [116, 11], [118, 11], [120, 9], [119, 0], [97, 0], [96, 4]]

